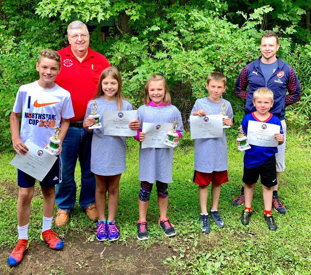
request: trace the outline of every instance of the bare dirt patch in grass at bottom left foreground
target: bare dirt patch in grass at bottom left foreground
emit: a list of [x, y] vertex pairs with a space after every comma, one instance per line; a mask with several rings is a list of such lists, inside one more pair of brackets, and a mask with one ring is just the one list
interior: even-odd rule
[[85, 242], [83, 236], [66, 239], [64, 243], [60, 251], [43, 243], [30, 243], [22, 262], [13, 268], [7, 265], [11, 250], [1, 249], [0, 274], [167, 274], [162, 262], [174, 254], [165, 245], [143, 249], [136, 240], [131, 245], [106, 245], [97, 240]]

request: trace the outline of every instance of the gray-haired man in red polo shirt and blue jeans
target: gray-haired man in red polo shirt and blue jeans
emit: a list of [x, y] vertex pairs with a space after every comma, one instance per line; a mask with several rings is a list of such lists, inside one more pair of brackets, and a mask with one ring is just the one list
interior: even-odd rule
[[87, 216], [98, 220], [95, 204], [95, 177], [91, 172], [92, 133], [83, 128], [86, 106], [97, 89], [101, 72], [110, 66], [108, 60], [89, 47], [89, 32], [81, 21], [73, 21], [67, 28], [69, 46], [58, 51], [62, 57], [62, 68], [55, 82], [70, 92], [75, 116], [63, 141], [63, 180], [56, 187], [58, 212], [57, 227], [69, 221], [69, 213], [76, 203], [77, 185], [75, 168], [77, 158], [81, 167], [81, 191], [79, 203]]

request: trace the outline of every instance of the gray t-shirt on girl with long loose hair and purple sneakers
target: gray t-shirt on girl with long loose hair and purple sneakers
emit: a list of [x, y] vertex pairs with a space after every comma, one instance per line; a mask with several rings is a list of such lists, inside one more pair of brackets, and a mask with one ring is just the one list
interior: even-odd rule
[[[91, 100], [86, 109], [85, 118], [91, 114]], [[91, 171], [96, 175], [112, 176], [118, 175], [126, 170], [125, 164], [125, 147], [126, 137], [105, 136], [103, 111], [116, 111], [118, 105], [115, 101], [108, 102], [101, 96], [96, 98], [98, 105], [97, 113], [100, 114], [102, 127], [93, 130], [92, 147], [91, 147]], [[123, 100], [123, 111], [133, 110], [131, 103]]]

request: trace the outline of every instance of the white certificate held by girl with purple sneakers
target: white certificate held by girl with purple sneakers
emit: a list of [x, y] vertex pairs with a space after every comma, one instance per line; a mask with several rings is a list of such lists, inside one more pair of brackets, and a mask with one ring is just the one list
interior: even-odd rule
[[137, 120], [137, 110], [104, 111], [103, 120], [105, 136], [133, 137], [137, 135], [137, 130], [128, 127], [132, 120]]

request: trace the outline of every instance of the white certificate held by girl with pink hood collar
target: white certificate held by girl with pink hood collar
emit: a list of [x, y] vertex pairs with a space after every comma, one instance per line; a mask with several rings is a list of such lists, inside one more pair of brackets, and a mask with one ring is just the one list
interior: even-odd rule
[[142, 142], [142, 148], [170, 148], [163, 143], [168, 138], [167, 132], [171, 129], [171, 123], [144, 122], [142, 132], [145, 133], [145, 140]]

